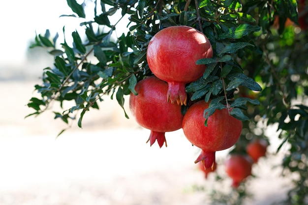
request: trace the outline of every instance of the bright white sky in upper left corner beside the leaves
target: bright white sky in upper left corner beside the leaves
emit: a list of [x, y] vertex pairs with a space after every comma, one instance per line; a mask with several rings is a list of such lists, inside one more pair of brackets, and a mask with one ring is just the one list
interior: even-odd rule
[[72, 32], [79, 25], [75, 18], [59, 18], [62, 14], [73, 14], [66, 0], [5, 0], [1, 4], [0, 66], [26, 60], [25, 52], [29, 41], [35, 38], [35, 31], [43, 34], [50, 29], [51, 34], [62, 33], [65, 25], [66, 31]]

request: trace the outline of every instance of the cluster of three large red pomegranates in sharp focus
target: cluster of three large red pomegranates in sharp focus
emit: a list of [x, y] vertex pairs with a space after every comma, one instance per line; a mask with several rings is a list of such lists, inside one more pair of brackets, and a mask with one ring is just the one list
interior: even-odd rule
[[[130, 94], [129, 106], [138, 124], [150, 129], [151, 146], [157, 141], [161, 147], [165, 132], [183, 128], [187, 140], [201, 148], [196, 162], [205, 169], [215, 162], [215, 152], [233, 146], [242, 131], [242, 121], [229, 115], [227, 109], [216, 110], [205, 126], [204, 100], [189, 103], [183, 116], [181, 107], [187, 105], [185, 85], [203, 76], [205, 65], [198, 59], [212, 58], [209, 39], [197, 29], [173, 26], [157, 32], [149, 42], [147, 61], [154, 76], [136, 84], [138, 95]], [[167, 146], [167, 144], [166, 144]]]

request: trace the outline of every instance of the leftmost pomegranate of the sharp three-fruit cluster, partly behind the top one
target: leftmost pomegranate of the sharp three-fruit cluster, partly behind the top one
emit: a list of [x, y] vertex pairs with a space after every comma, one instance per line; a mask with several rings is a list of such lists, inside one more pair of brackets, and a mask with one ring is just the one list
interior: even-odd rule
[[168, 84], [155, 76], [139, 81], [135, 90], [138, 95], [131, 93], [129, 97], [131, 113], [138, 124], [151, 130], [150, 145], [157, 140], [162, 147], [166, 143], [165, 132], [182, 128], [181, 105], [166, 101]]

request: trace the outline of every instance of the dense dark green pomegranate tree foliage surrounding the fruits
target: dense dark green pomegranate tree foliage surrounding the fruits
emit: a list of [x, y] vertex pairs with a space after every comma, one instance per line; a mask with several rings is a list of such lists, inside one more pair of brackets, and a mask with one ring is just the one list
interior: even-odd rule
[[[64, 27], [63, 42], [49, 30], [36, 36], [31, 47], [45, 48], [54, 64], [44, 68], [42, 83], [35, 85], [40, 97], [31, 98], [28, 106], [34, 113], [29, 116], [44, 112], [53, 101], [61, 105], [71, 101], [75, 105], [54, 111], [55, 118], [67, 124], [76, 118], [81, 127], [88, 111], [104, 106], [103, 95], [115, 95], [123, 108], [123, 96], [137, 94], [137, 82], [153, 75], [146, 61], [150, 39], [160, 29], [187, 25], [203, 32], [214, 50], [213, 58], [196, 62], [207, 69], [202, 78], [186, 85], [189, 102], [211, 99], [206, 118], [226, 105], [233, 108], [230, 114], [243, 121], [243, 132], [232, 152], [245, 152], [252, 139], [267, 139], [258, 124], [278, 124], [282, 144], [277, 151], [289, 145], [281, 163], [283, 174], [299, 176], [285, 204], [308, 204], [307, 2], [67, 0], [67, 4], [73, 13], [61, 18], [84, 18], [83, 33], [76, 28], [65, 36]], [[89, 4], [94, 4], [90, 21], [85, 12]], [[121, 28], [110, 19], [120, 22], [127, 17], [127, 32], [117, 32]], [[183, 106], [184, 113], [188, 106]], [[128, 117], [125, 110], [124, 115]]]

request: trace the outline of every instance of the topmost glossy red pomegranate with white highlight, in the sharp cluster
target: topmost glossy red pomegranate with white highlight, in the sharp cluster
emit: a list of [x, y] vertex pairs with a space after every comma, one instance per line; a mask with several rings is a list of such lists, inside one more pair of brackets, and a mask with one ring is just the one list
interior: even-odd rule
[[172, 26], [158, 31], [149, 42], [147, 61], [153, 74], [168, 82], [167, 101], [186, 105], [185, 84], [200, 78], [206, 66], [198, 59], [212, 58], [209, 39], [197, 29]]

